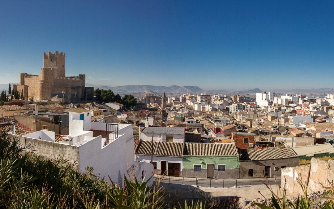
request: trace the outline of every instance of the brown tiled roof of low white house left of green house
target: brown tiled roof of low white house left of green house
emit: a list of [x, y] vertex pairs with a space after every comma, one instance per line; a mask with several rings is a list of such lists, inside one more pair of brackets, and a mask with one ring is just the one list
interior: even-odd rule
[[[151, 155], [152, 141], [140, 141], [135, 150], [136, 154]], [[153, 142], [153, 155], [155, 156], [182, 156], [183, 142]]]

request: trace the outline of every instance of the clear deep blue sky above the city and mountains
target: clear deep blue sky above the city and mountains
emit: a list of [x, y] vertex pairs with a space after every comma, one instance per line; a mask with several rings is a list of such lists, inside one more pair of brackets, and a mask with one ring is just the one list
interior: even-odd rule
[[66, 53], [94, 85], [332, 88], [334, 1], [3, 1], [0, 84]]

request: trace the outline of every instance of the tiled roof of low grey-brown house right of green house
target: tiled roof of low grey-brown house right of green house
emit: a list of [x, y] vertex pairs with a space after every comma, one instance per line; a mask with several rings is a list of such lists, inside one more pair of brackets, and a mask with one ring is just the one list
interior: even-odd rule
[[291, 147], [270, 147], [262, 149], [240, 149], [240, 161], [258, 161], [282, 158], [294, 158], [296, 153]]

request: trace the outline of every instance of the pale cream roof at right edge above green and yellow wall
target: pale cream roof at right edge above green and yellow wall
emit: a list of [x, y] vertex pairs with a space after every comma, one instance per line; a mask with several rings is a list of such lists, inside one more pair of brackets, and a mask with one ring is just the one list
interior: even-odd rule
[[313, 156], [314, 154], [327, 153], [327, 152], [334, 153], [334, 147], [329, 143], [314, 144], [308, 146], [296, 146], [292, 147], [292, 149], [298, 155], [306, 155], [306, 156]]

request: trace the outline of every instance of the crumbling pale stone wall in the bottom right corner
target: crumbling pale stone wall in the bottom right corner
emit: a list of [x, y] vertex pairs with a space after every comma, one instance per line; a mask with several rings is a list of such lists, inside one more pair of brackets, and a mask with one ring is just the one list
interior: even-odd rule
[[[311, 170], [310, 170], [311, 166]], [[329, 186], [328, 181], [334, 181], [334, 161], [323, 161], [316, 158], [311, 159], [311, 165], [297, 166], [282, 169], [281, 181], [282, 187], [286, 184], [287, 194], [302, 194], [302, 189], [298, 183], [298, 179], [302, 180], [305, 185], [308, 172], [310, 170], [310, 178], [308, 184], [308, 194], [312, 192], [322, 191], [322, 185]]]

